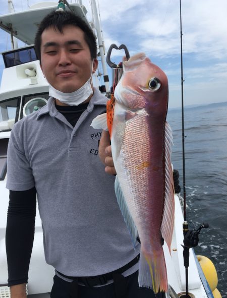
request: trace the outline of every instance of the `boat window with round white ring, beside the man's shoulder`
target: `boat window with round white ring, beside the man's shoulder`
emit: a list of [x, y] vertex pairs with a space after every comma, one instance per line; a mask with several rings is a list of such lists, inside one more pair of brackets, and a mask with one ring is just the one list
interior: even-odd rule
[[20, 119], [39, 110], [46, 105], [49, 98], [48, 92], [25, 95], [22, 98], [22, 113]]

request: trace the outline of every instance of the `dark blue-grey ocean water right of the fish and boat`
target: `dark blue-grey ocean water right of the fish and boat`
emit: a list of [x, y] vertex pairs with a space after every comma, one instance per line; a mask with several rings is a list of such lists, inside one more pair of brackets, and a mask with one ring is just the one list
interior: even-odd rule
[[[197, 255], [215, 265], [218, 290], [227, 297], [227, 102], [184, 109], [187, 220], [202, 229]], [[183, 196], [182, 114], [168, 110], [174, 136], [172, 162], [180, 173]]]

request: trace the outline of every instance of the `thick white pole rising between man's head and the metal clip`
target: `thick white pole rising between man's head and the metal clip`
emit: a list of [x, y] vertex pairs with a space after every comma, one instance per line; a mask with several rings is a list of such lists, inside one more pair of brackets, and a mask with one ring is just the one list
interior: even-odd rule
[[97, 38], [98, 38], [98, 48], [99, 48], [99, 52], [100, 52], [100, 56], [101, 56], [105, 90], [106, 90], [106, 92], [108, 92], [108, 91], [110, 91], [109, 78], [108, 78], [108, 73], [107, 73], [107, 68], [106, 68], [106, 61], [105, 61], [105, 54], [104, 54], [104, 41], [102, 40], [102, 36], [101, 36], [101, 29], [100, 29], [100, 24], [99, 24], [99, 19], [98, 19], [96, 1], [91, 0], [91, 4], [92, 4], [93, 11], [94, 11], [94, 22], [95, 22], [95, 28], [96, 28], [96, 32], [97, 32]]

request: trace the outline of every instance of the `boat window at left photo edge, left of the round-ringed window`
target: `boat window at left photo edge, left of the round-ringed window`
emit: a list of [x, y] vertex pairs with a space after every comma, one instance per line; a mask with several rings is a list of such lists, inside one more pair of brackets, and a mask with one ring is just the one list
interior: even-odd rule
[[0, 101], [0, 132], [11, 131], [18, 121], [20, 97]]

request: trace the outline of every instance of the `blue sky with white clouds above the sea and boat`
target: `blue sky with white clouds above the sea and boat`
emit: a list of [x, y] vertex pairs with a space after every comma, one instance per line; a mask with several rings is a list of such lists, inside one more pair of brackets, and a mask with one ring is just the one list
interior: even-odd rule
[[[42, 1], [13, 2], [18, 12]], [[96, 0], [96, 3], [106, 51], [115, 43], [117, 46], [125, 44], [131, 56], [144, 52], [167, 75], [169, 107], [180, 107], [180, 1]], [[83, 4], [88, 10], [89, 21], [92, 21], [89, 0]], [[6, 14], [7, 0], [0, 0], [0, 7], [1, 14]], [[226, 0], [182, 0], [185, 106], [227, 101], [226, 13]], [[10, 49], [10, 46], [10, 35], [1, 30], [0, 51]], [[113, 50], [111, 61], [118, 64], [123, 55], [123, 50]], [[0, 75], [3, 68], [1, 57]]]

